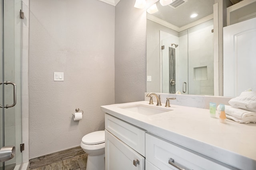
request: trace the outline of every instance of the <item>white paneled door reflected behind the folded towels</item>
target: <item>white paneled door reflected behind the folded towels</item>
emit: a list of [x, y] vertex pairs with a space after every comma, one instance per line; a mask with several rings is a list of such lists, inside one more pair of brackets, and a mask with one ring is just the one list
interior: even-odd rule
[[223, 28], [224, 96], [256, 90], [256, 18]]

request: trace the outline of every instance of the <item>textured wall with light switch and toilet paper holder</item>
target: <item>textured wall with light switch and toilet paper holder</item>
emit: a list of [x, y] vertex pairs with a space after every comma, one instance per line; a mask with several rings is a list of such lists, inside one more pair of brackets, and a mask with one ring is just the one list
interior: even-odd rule
[[[30, 158], [104, 129], [100, 106], [114, 104], [114, 18], [115, 7], [98, 0], [30, 1]], [[81, 121], [72, 120], [76, 107]]]

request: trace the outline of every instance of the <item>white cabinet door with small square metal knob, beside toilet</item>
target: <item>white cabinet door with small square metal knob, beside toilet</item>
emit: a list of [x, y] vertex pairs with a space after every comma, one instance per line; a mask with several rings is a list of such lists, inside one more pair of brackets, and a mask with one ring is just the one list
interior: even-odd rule
[[145, 170], [145, 158], [105, 130], [106, 170]]

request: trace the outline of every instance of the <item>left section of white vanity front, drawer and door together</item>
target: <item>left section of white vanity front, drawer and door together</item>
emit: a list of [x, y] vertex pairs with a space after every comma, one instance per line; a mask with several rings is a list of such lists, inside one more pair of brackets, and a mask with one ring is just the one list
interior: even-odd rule
[[105, 114], [106, 170], [145, 170], [145, 131]]

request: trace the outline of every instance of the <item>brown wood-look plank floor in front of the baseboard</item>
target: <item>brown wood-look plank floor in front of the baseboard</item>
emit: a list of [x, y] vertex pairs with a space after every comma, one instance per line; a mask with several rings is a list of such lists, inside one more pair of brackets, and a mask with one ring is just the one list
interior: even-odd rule
[[80, 154], [72, 158], [60, 160], [52, 164], [48, 164], [39, 168], [30, 170], [85, 170], [88, 154]]

